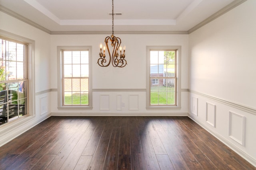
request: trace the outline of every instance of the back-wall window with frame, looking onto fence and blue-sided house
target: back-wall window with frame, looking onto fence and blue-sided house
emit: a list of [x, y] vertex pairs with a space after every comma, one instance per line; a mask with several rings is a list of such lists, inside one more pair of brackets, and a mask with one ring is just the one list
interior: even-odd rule
[[180, 107], [180, 47], [147, 47], [147, 109]]

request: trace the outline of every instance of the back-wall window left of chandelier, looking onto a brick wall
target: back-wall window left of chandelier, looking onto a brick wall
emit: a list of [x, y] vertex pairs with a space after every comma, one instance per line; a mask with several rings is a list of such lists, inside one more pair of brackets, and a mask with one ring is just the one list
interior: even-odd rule
[[91, 106], [90, 49], [58, 47], [61, 61], [59, 107]]

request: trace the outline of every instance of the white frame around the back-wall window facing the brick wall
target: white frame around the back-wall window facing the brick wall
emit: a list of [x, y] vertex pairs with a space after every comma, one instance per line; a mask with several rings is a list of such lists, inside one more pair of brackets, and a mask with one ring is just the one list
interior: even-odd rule
[[[88, 93], [89, 104], [86, 106], [64, 106], [63, 104], [63, 85], [62, 85], [62, 51], [88, 51], [89, 52], [89, 79]], [[57, 47], [57, 74], [58, 74], [58, 109], [59, 110], [74, 110], [74, 109], [92, 109], [92, 46], [58, 46]]]

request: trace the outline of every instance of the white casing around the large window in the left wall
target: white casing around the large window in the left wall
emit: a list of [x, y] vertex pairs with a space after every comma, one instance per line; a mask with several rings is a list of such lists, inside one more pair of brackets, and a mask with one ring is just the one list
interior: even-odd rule
[[13, 33], [9, 33], [7, 31], [4, 31], [0, 29], [0, 37], [3, 39], [6, 39], [7, 41], [17, 42], [25, 44], [25, 47], [27, 48], [27, 57], [26, 57], [26, 70], [25, 74], [27, 74], [27, 114], [19, 117], [18, 119], [15, 119], [13, 121], [10, 121], [8, 123], [5, 123], [4, 125], [11, 125], [17, 122], [24, 122], [29, 121], [31, 118], [35, 117], [35, 78], [34, 78], [34, 54], [35, 54], [35, 41], [32, 39], [28, 39], [25, 37], [22, 37], [20, 35], [16, 35]]

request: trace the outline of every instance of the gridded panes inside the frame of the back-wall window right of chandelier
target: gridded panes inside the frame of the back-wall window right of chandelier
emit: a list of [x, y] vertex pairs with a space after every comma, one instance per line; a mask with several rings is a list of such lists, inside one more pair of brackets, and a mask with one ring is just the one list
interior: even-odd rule
[[151, 49], [149, 55], [150, 106], [177, 106], [177, 50]]

